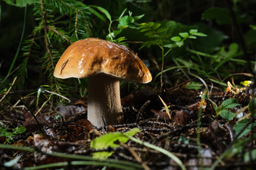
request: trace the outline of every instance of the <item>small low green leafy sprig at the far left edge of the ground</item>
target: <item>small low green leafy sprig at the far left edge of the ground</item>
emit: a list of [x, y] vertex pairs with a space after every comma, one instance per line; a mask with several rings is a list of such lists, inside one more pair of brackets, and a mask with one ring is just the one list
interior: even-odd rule
[[6, 128], [0, 127], [0, 137], [6, 137], [6, 142], [11, 142], [12, 137], [25, 132], [26, 128], [24, 128], [23, 126], [18, 126], [11, 130], [12, 132], [9, 132], [9, 126], [7, 126]]

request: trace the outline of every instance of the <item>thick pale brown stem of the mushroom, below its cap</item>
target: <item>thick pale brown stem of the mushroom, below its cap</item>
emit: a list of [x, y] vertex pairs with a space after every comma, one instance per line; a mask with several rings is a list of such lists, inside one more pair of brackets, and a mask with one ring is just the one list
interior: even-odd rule
[[119, 79], [96, 74], [88, 78], [87, 119], [96, 127], [122, 122]]

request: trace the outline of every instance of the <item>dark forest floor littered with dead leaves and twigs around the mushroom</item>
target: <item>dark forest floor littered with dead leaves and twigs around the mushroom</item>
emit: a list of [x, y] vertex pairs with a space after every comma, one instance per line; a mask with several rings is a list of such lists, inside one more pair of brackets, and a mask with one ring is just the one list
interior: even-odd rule
[[[86, 98], [73, 99], [55, 110], [49, 102], [44, 105], [47, 98], [40, 98], [40, 109], [33, 108], [36, 96], [27, 96], [24, 91], [1, 94], [5, 98], [1, 101], [4, 109], [0, 114], [0, 143], [6, 148], [1, 145], [0, 166], [3, 169], [102, 169], [104, 166], [107, 169], [254, 169], [255, 154], [248, 154], [256, 147], [255, 129], [247, 129], [254, 122], [247, 109], [250, 89], [213, 88], [207, 96], [203, 91], [186, 89], [185, 85], [161, 92], [145, 87], [124, 96], [124, 123], [104, 128], [95, 128], [86, 119]], [[215, 103], [220, 108], [228, 98], [239, 103], [226, 107], [236, 114], [233, 119], [216, 115], [213, 107]], [[235, 132], [234, 126], [245, 119], [247, 123], [240, 132]], [[19, 134], [16, 127], [25, 127], [26, 132]], [[139, 129], [134, 132], [135, 140], [118, 142], [117, 137], [112, 141], [116, 147], [100, 150], [90, 147], [96, 137], [110, 132], [123, 134], [134, 128]], [[110, 153], [105, 159], [109, 161], [89, 160], [96, 152]], [[85, 159], [87, 162], [78, 162]], [[61, 162], [66, 164], [55, 164]]]

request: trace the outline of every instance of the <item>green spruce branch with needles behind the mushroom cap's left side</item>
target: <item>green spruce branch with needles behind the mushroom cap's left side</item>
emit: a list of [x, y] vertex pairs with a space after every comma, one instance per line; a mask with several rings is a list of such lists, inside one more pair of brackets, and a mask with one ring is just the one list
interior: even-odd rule
[[[23, 41], [21, 54], [23, 58], [16, 76], [25, 83], [29, 79], [27, 72], [30, 61], [40, 60], [43, 74], [48, 75], [48, 89], [57, 91], [58, 94], [67, 93], [68, 83], [53, 77], [55, 64], [72, 42], [91, 36], [92, 25], [90, 15], [95, 14], [104, 19], [97, 11], [80, 1], [34, 1], [34, 20], [37, 26]], [[63, 17], [68, 18], [63, 20]], [[43, 44], [42, 44], [43, 43]]]

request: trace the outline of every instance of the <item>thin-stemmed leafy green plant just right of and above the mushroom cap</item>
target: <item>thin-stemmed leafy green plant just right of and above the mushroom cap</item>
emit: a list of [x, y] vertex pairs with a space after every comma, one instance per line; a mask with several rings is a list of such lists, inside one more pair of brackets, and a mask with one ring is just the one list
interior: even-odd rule
[[[149, 38], [142, 43], [143, 47], [150, 48], [157, 45], [161, 49], [161, 87], [163, 86], [164, 57], [176, 47], [182, 47], [187, 39], [196, 39], [196, 36], [206, 36], [197, 29], [183, 26], [181, 23], [166, 21], [163, 23], [141, 23], [140, 32]], [[165, 51], [167, 50], [167, 51]]]

